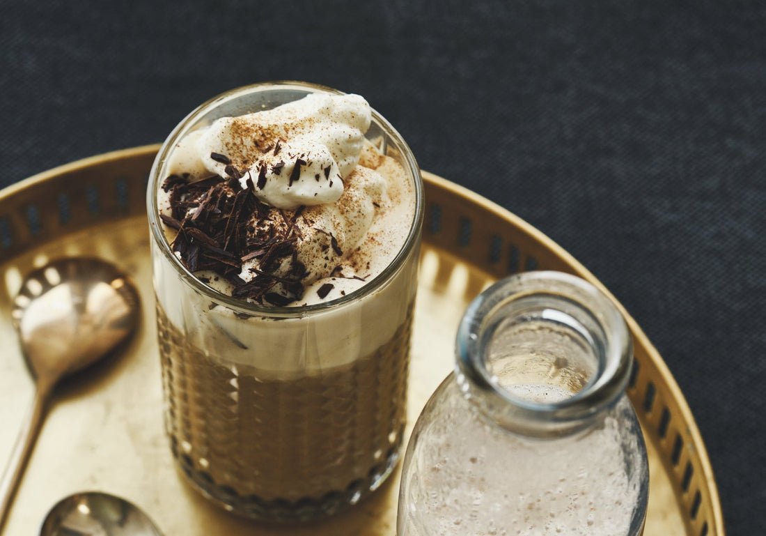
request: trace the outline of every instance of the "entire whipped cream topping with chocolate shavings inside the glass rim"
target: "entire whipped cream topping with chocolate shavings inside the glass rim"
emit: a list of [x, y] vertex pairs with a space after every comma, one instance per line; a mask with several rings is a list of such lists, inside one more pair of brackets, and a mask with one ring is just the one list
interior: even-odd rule
[[371, 119], [362, 97], [311, 94], [183, 136], [157, 197], [175, 255], [260, 304], [330, 301], [371, 281], [414, 212], [404, 169], [364, 137]]

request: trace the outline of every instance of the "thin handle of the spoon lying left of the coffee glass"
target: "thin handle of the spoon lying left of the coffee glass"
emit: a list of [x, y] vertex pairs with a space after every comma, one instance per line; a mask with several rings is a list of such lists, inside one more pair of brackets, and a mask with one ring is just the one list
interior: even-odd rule
[[[40, 379], [42, 380], [42, 379]], [[47, 401], [51, 396], [54, 383], [50, 381], [40, 381], [34, 389], [34, 400], [28, 409], [21, 430], [18, 433], [16, 442], [11, 451], [11, 459], [0, 480], [0, 531], [2, 531], [5, 521], [8, 519], [8, 512], [11, 510], [11, 504], [16, 494], [21, 475], [24, 474], [29, 455], [34, 449], [34, 442], [38, 439], [38, 434], [47, 411]]]

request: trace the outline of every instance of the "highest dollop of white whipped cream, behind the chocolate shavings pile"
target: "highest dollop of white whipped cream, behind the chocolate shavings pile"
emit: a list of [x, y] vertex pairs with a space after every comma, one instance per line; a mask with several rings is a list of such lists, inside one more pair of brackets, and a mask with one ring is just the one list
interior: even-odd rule
[[188, 134], [172, 153], [169, 173], [188, 173], [191, 181], [232, 177], [277, 209], [336, 202], [371, 120], [359, 95], [309, 94]]

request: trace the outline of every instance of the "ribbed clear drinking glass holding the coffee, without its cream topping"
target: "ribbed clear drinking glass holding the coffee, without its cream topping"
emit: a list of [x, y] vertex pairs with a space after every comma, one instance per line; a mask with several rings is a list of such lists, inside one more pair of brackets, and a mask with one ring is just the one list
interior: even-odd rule
[[411, 192], [403, 245], [361, 288], [305, 306], [258, 304], [212, 288], [179, 261], [158, 196], [184, 136], [221, 117], [270, 110], [314, 93], [339, 94], [286, 82], [208, 101], [165, 141], [149, 177], [165, 427], [173, 455], [208, 498], [270, 520], [316, 518], [355, 504], [399, 458], [423, 218], [417, 163], [372, 110], [365, 146], [372, 147], [373, 161], [379, 157], [381, 166], [400, 170]]

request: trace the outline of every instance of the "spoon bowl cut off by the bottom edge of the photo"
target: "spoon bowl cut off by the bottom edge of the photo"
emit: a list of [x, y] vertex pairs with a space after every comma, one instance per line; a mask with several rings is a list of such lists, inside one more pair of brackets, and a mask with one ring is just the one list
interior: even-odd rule
[[58, 501], [40, 536], [162, 536], [139, 507], [108, 493], [83, 492]]

